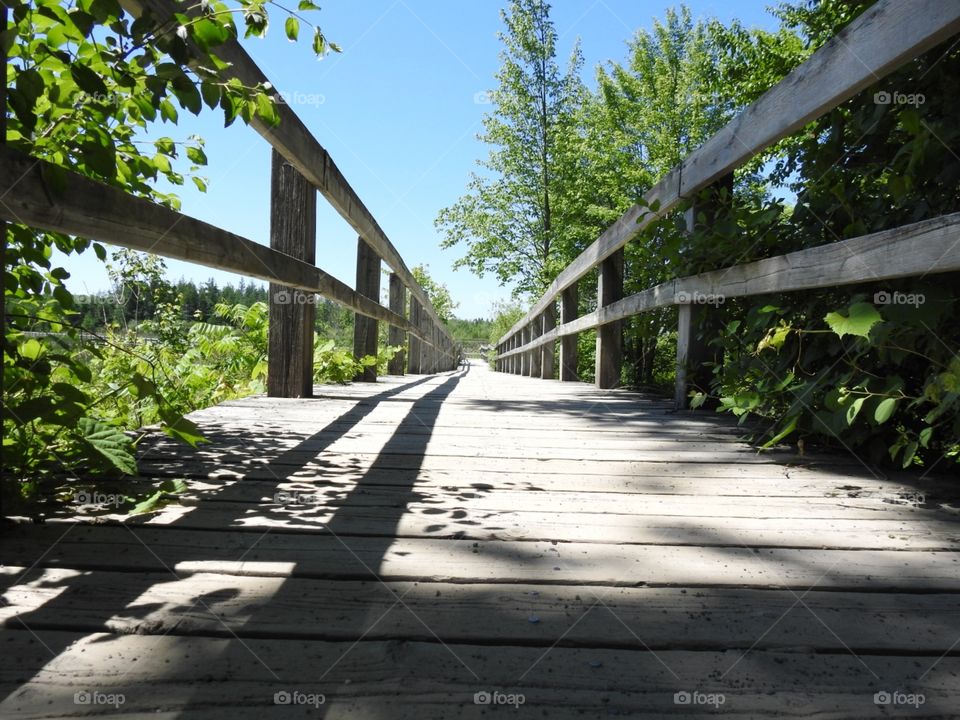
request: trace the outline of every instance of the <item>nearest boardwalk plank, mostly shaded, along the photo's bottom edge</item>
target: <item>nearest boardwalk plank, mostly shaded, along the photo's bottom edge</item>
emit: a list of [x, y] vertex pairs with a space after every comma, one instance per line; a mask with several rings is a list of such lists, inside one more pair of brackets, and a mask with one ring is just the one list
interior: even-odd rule
[[[594, 612], [604, 610], [598, 604]], [[634, 640], [629, 647], [561, 646], [544, 653], [540, 646], [441, 645], [435, 640], [351, 647], [348, 642], [294, 638], [239, 642], [232, 637], [57, 631], [34, 636], [7, 630], [0, 641], [22, 660], [0, 668], [0, 683], [5, 689], [20, 687], [0, 704], [0, 713], [11, 720], [77, 716], [79, 689], [124, 696], [119, 707], [83, 706], [85, 717], [155, 718], [160, 708], [167, 711], [166, 718], [204, 720], [251, 712], [308, 717], [318, 710], [329, 720], [480, 720], [520, 712], [563, 719], [662, 718], [678, 712], [707, 718], [715, 717], [718, 708], [725, 716], [741, 718], [875, 717], [888, 708], [879, 708], [874, 695], [898, 689], [922, 692], [924, 701], [919, 710], [907, 706], [900, 711], [945, 718], [955, 715], [960, 702], [960, 660], [955, 657], [935, 662], [929, 656], [857, 657], [805, 648], [651, 653], [644, 650], [644, 629], [631, 631], [623, 631]], [[63, 651], [51, 659], [41, 643]], [[519, 698], [518, 707], [475, 704], [478, 692], [490, 691], [522, 695], [522, 710]], [[300, 702], [308, 695], [318, 699], [316, 705], [276, 705], [277, 692], [299, 693]], [[678, 708], [675, 695], [682, 692], [722, 695], [723, 702], [718, 698], [715, 705]]]

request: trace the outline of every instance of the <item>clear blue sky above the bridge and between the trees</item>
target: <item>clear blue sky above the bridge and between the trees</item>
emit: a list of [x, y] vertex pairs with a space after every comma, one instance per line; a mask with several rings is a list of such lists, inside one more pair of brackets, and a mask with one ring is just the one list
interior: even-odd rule
[[[409, 266], [429, 265], [460, 303], [459, 317], [483, 317], [493, 301], [509, 296], [493, 277], [454, 272], [457, 249], [441, 250], [433, 226], [437, 211], [464, 191], [475, 161], [487, 149], [477, 139], [489, 106], [477, 93], [494, 86], [501, 29], [496, 0], [329, 0], [308, 16], [343, 48], [321, 61], [309, 37], [298, 44], [283, 34], [283, 16], [272, 8], [273, 26], [263, 40], [244, 45], [273, 84], [291, 98], [307, 127], [332, 155]], [[649, 28], [675, 3], [664, 0], [557, 0], [552, 17], [565, 58], [579, 37], [584, 79], [594, 69], [624, 59], [626, 41]], [[687, 2], [694, 17], [739, 19], [768, 29], [776, 20], [768, 3], [756, 0]], [[205, 108], [206, 110], [206, 108]], [[269, 243], [270, 148], [237, 121], [223, 128], [219, 111], [195, 118], [180, 113], [178, 126], [156, 126], [151, 137], [177, 140], [199, 134], [207, 141], [206, 194], [189, 181], [176, 191], [183, 212], [256, 242]], [[184, 169], [186, 166], [184, 166]], [[356, 235], [319, 198], [317, 264], [351, 286]], [[66, 262], [75, 293], [106, 289], [108, 280], [93, 258]], [[167, 261], [172, 278], [234, 282], [238, 276]]]

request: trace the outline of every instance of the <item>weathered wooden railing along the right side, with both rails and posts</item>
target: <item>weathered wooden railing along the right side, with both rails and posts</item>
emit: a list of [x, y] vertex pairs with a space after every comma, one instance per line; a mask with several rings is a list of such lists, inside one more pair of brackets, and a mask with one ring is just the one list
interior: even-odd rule
[[[731, 186], [733, 171], [778, 140], [837, 107], [882, 76], [960, 32], [956, 0], [882, 0], [660, 179], [553, 281], [497, 344], [496, 369], [577, 379], [577, 334], [596, 329], [596, 384], [620, 383], [622, 322], [677, 305], [675, 401], [705, 357], [696, 327], [710, 298], [834, 287], [960, 269], [960, 213], [745, 265], [678, 278], [623, 297], [623, 247], [700, 191]], [[693, 230], [698, 208], [686, 213]], [[578, 317], [578, 281], [598, 271], [597, 309]], [[557, 304], [560, 325], [557, 325]]]

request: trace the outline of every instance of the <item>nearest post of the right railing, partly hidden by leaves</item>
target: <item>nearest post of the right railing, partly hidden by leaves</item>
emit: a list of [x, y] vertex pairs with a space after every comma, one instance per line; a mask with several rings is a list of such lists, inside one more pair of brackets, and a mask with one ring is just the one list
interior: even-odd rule
[[[707, 224], [710, 224], [729, 205], [733, 196], [733, 174], [719, 178], [705, 194], [705, 200], [698, 198], [684, 214], [687, 233], [693, 233], [702, 226], [699, 215], [705, 215]], [[704, 301], [714, 301], [716, 298], [688, 297], [686, 300], [688, 302], [677, 305], [677, 365], [673, 390], [677, 410], [686, 409], [687, 392], [691, 384], [706, 387], [710, 383], [707, 362], [711, 359], [711, 350], [707, 347], [704, 335], [711, 323], [709, 305]]]

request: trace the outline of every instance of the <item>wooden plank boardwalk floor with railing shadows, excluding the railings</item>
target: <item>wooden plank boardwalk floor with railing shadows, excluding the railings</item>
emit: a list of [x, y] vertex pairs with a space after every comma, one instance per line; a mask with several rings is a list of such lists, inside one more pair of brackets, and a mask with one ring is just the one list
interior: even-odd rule
[[934, 484], [476, 363], [317, 395], [145, 443], [158, 515], [5, 531], [0, 717], [960, 717]]

